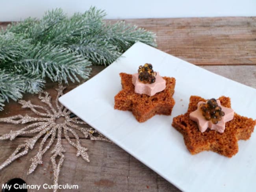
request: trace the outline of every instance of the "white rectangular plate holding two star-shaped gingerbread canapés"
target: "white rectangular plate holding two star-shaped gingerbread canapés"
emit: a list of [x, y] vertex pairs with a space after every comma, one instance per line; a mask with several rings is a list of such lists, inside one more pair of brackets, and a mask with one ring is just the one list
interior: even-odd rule
[[[139, 65], [152, 63], [161, 76], [176, 78], [171, 116], [156, 115], [139, 123], [129, 111], [114, 109], [122, 89], [120, 72], [133, 74]], [[256, 89], [213, 74], [141, 42], [95, 77], [59, 98], [70, 111], [115, 144], [186, 192], [234, 192], [256, 189], [256, 134], [239, 141], [231, 159], [204, 151], [191, 155], [183, 137], [172, 126], [174, 116], [187, 111], [189, 97], [229, 96], [236, 113], [256, 119]]]

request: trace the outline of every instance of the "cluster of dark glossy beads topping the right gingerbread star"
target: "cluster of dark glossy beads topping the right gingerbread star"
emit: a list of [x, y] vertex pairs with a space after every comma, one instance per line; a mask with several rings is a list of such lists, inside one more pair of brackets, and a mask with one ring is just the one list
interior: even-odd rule
[[206, 120], [211, 120], [213, 124], [217, 124], [225, 115], [224, 111], [221, 111], [221, 107], [217, 104], [217, 101], [214, 98], [208, 100], [206, 103], [202, 103], [200, 108], [204, 118]]

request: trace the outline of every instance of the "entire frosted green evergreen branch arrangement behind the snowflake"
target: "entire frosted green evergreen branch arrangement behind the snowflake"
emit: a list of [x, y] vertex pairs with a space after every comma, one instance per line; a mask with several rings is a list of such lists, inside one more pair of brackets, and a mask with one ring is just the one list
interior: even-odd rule
[[106, 12], [91, 7], [67, 17], [62, 9], [43, 18], [27, 18], [0, 31], [0, 110], [9, 98], [37, 93], [52, 81], [89, 78], [91, 63], [109, 65], [136, 41], [156, 46], [155, 34], [137, 26], [103, 19]]

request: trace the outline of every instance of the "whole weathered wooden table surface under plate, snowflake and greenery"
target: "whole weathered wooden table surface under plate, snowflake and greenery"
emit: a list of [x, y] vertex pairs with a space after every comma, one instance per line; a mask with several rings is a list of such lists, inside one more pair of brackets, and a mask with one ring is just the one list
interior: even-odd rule
[[[158, 49], [256, 88], [256, 17], [129, 19], [126, 22], [154, 31], [158, 36]], [[4, 28], [6, 25], [0, 23]], [[93, 66], [91, 77], [104, 68]], [[66, 92], [77, 85], [71, 83]], [[48, 82], [45, 90], [54, 95], [57, 86], [57, 83]], [[37, 96], [25, 95], [24, 100], [36, 103]], [[18, 103], [10, 102], [0, 112], [0, 118], [22, 113], [32, 114], [29, 110], [20, 109]], [[1, 123], [0, 135], [11, 129], [17, 130], [20, 126]], [[31, 136], [0, 141], [0, 162], [4, 162], [19, 144]], [[59, 184], [79, 185], [80, 192], [180, 191], [115, 144], [81, 137], [81, 143], [89, 148], [91, 162], [77, 158], [76, 150], [63, 138], [66, 152]], [[31, 163], [29, 160], [38, 146], [0, 171], [1, 186], [14, 177], [20, 177], [30, 185], [52, 184], [50, 150], [45, 153], [42, 166], [31, 175], [26, 174]], [[187, 150], [185, 146], [184, 150]]]

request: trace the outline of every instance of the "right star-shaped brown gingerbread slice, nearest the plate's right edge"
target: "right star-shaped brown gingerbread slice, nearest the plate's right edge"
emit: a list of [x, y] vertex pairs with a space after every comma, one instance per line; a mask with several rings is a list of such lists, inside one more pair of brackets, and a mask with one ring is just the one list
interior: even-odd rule
[[[222, 106], [231, 108], [230, 98], [220, 97]], [[238, 152], [237, 141], [250, 138], [256, 120], [234, 113], [234, 118], [225, 123], [224, 133], [210, 128], [203, 133], [198, 129], [197, 122], [189, 118], [189, 114], [196, 111], [198, 102], [206, 102], [199, 96], [191, 96], [187, 113], [173, 118], [173, 127], [182, 133], [187, 149], [191, 154], [201, 151], [214, 151], [226, 157], [232, 157]]]

